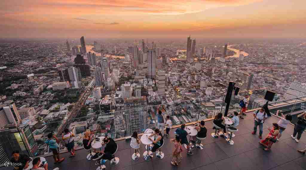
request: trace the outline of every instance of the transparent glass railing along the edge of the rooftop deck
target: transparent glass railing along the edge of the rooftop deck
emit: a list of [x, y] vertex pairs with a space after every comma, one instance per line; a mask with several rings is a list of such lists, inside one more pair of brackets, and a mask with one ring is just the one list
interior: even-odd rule
[[[248, 110], [262, 107], [266, 103], [263, 98], [267, 90], [275, 91], [263, 88], [241, 91], [237, 96], [233, 93], [228, 113], [240, 112], [239, 102], [245, 94], [250, 94]], [[64, 128], [69, 128], [76, 134], [74, 141], [77, 149], [83, 147], [82, 140], [87, 129], [90, 129], [96, 137], [109, 136], [117, 140], [125, 139], [134, 131], [143, 133], [147, 128], [157, 128], [157, 110], [162, 110], [165, 119], [169, 116], [173, 125], [209, 120], [220, 112], [224, 114], [227, 104], [224, 102], [225, 95], [226, 92], [224, 95], [207, 96], [205, 92], [178, 91], [176, 96], [166, 96], [162, 99], [150, 96], [144, 102], [142, 99], [129, 101], [133, 103], [129, 105], [124, 105], [126, 101], [121, 99], [116, 99], [111, 106], [107, 103], [88, 103], [82, 105], [70, 119], [68, 117], [74, 107], [66, 108], [60, 103], [55, 103], [49, 110], [44, 111], [44, 114], [24, 122], [18, 128], [7, 127], [0, 131], [0, 151], [6, 153], [8, 158], [13, 150], [20, 150], [32, 157], [51, 155], [44, 141], [47, 140], [49, 133], [54, 133], [60, 140], [60, 151], [66, 152], [65, 141], [62, 141]], [[306, 96], [285, 99], [282, 92], [277, 92], [276, 96], [278, 97], [275, 101], [269, 102], [269, 110], [272, 114], [281, 110], [284, 114], [298, 115], [305, 110]], [[173, 102], [174, 99], [176, 99], [175, 102]], [[147, 104], [147, 101], [150, 104]]]

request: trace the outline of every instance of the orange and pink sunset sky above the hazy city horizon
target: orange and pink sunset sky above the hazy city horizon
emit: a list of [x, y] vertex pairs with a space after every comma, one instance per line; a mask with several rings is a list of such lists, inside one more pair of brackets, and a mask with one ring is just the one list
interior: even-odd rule
[[2, 0], [1, 38], [306, 38], [305, 0]]

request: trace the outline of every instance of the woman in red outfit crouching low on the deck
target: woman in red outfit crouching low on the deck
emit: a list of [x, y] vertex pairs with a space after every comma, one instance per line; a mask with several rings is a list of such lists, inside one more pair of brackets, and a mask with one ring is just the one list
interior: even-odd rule
[[263, 149], [263, 150], [270, 150], [271, 146], [273, 145], [273, 143], [275, 143], [277, 140], [277, 136], [279, 134], [279, 126], [277, 123], [273, 123], [273, 128], [268, 128], [268, 130], [270, 131], [270, 133], [266, 136], [265, 139], [261, 140], [259, 143], [262, 144], [263, 146], [267, 146], [267, 148]]

